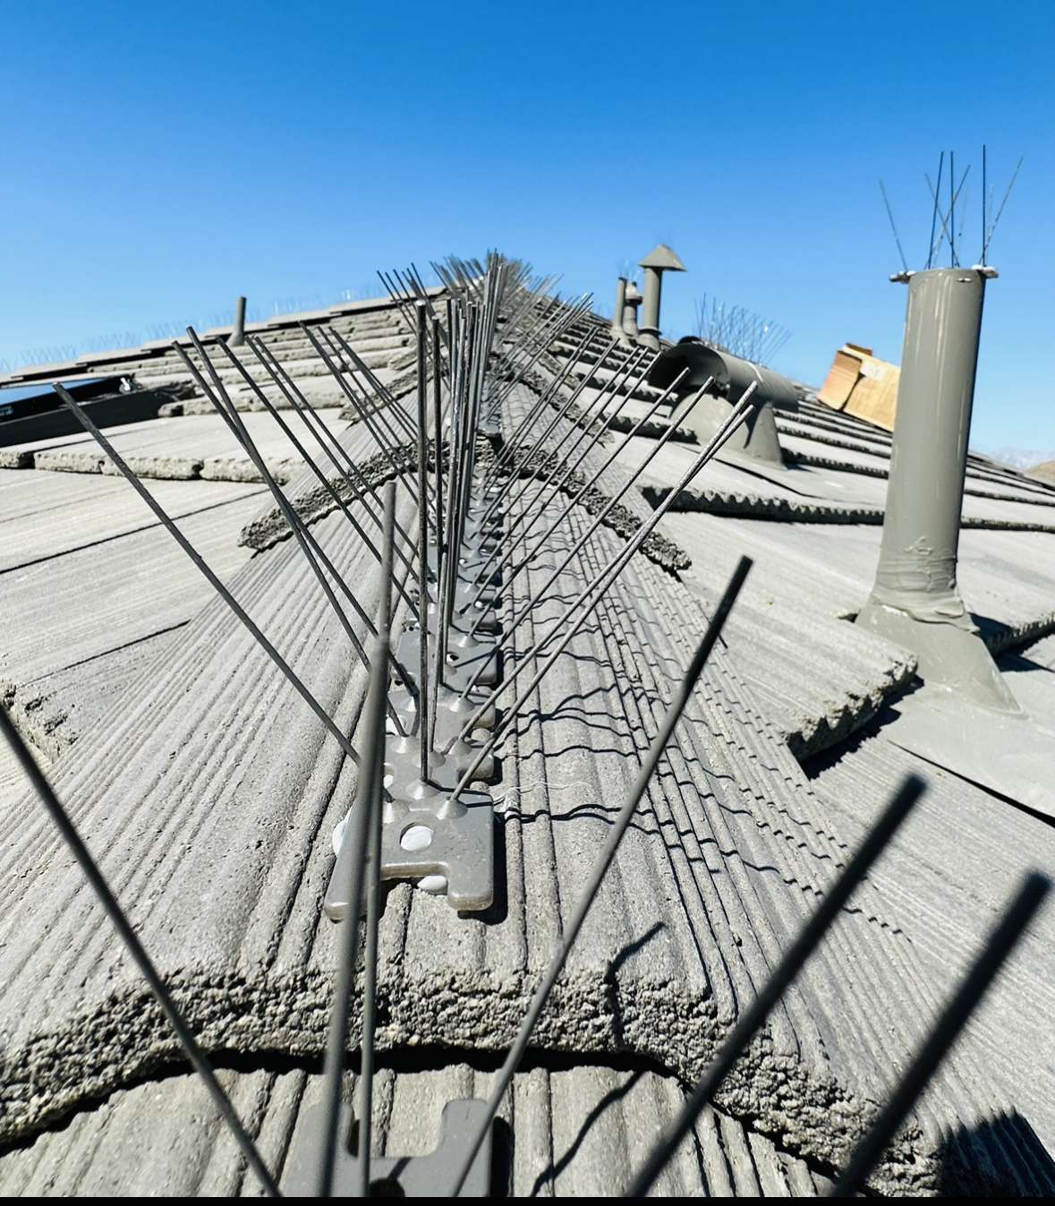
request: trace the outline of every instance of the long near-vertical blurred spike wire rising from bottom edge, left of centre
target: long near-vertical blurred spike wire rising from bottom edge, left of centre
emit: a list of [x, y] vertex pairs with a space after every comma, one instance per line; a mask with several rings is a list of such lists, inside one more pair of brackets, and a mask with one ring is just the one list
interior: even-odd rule
[[[392, 534], [395, 513], [395, 487], [389, 482], [385, 494], [385, 552], [381, 569], [381, 598], [377, 604], [377, 636], [371, 649], [370, 684], [367, 691], [367, 703], [363, 709], [363, 761], [359, 778], [356, 783], [356, 801], [352, 806], [348, 822], [345, 826], [345, 842], [352, 842], [352, 849], [358, 857], [351, 859], [348, 882], [348, 909], [345, 919], [339, 923], [340, 941], [338, 943], [338, 966], [334, 979], [333, 1005], [330, 1006], [329, 1029], [327, 1034], [326, 1060], [323, 1065], [322, 1100], [326, 1110], [323, 1124], [322, 1153], [318, 1167], [317, 1196], [329, 1198], [333, 1194], [333, 1173], [340, 1142], [341, 1083], [348, 1043], [348, 1009], [356, 978], [356, 964], [359, 958], [359, 921], [362, 919], [363, 885], [367, 876], [367, 859], [371, 842], [375, 814], [380, 818], [381, 792], [385, 780], [385, 701], [388, 697], [388, 658], [389, 658], [389, 598], [387, 584], [392, 580]], [[387, 578], [385, 570], [387, 568]], [[380, 824], [380, 819], [379, 819]], [[376, 876], [379, 862], [371, 866]], [[376, 943], [374, 946], [376, 985]], [[376, 1014], [374, 1014], [376, 1017]], [[365, 1019], [364, 1019], [365, 1021]], [[365, 1037], [365, 1028], [364, 1028]], [[373, 1032], [370, 1035], [373, 1055]], [[371, 1059], [373, 1072], [373, 1059]], [[362, 1067], [361, 1067], [362, 1072]], [[359, 1157], [368, 1152], [370, 1142], [370, 1117], [359, 1118]], [[369, 1177], [369, 1159], [367, 1177]], [[361, 1164], [362, 1167], [362, 1164]], [[369, 1182], [368, 1182], [369, 1184]]]

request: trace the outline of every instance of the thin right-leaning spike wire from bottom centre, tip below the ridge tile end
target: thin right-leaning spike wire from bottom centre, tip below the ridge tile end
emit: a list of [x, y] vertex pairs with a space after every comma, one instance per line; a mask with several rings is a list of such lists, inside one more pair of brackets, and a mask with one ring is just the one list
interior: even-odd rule
[[737, 568], [733, 570], [733, 575], [729, 579], [717, 607], [715, 608], [714, 615], [704, 631], [703, 639], [688, 663], [685, 675], [678, 685], [678, 690], [674, 692], [674, 697], [667, 707], [667, 713], [663, 716], [660, 732], [656, 734], [652, 744], [649, 747], [647, 754], [641, 761], [641, 767], [634, 779], [626, 803], [622, 806], [619, 815], [613, 822], [613, 827], [609, 831], [604, 847], [602, 848], [600, 857], [590, 872], [590, 878], [586, 880], [586, 886], [584, 888], [582, 895], [575, 906], [572, 920], [565, 927], [563, 927], [561, 941], [553, 953], [553, 958], [550, 960], [546, 972], [543, 976], [539, 987], [534, 991], [527, 1014], [524, 1015], [516, 1038], [509, 1049], [509, 1054], [502, 1065], [502, 1070], [491, 1088], [491, 1095], [487, 1099], [487, 1113], [481, 1120], [480, 1130], [476, 1132], [473, 1146], [462, 1163], [462, 1167], [451, 1192], [452, 1198], [458, 1196], [462, 1190], [462, 1185], [465, 1183], [469, 1170], [473, 1167], [473, 1161], [476, 1159], [476, 1154], [483, 1143], [487, 1131], [494, 1122], [494, 1116], [498, 1113], [498, 1107], [502, 1105], [502, 1099], [505, 1096], [505, 1091], [512, 1083], [514, 1075], [520, 1067], [535, 1025], [541, 1017], [543, 1009], [546, 1007], [546, 1001], [550, 999], [550, 994], [552, 993], [561, 972], [564, 970], [564, 964], [568, 961], [568, 955], [572, 953], [575, 939], [579, 937], [582, 923], [586, 920], [586, 915], [593, 906], [593, 901], [600, 889], [600, 883], [604, 879], [608, 868], [611, 866], [611, 861], [619, 850], [620, 843], [622, 842], [623, 835], [626, 833], [631, 820], [633, 820], [634, 814], [640, 807], [649, 783], [656, 772], [656, 767], [660, 765], [660, 759], [663, 756], [667, 744], [674, 733], [674, 728], [681, 719], [685, 706], [688, 703], [690, 696], [696, 687], [697, 679], [703, 673], [703, 667], [707, 665], [707, 660], [721, 636], [725, 622], [740, 593], [751, 566], [752, 561], [750, 557], [740, 557]]

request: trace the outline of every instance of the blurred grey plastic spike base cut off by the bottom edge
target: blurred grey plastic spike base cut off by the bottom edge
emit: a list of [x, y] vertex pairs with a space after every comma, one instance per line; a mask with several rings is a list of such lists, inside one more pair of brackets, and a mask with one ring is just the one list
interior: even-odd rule
[[[450, 1198], [455, 1189], [455, 1177], [462, 1167], [473, 1140], [487, 1117], [487, 1102], [475, 1099], [449, 1101], [440, 1118], [439, 1142], [427, 1155], [371, 1155], [371, 1198]], [[309, 1106], [300, 1114], [282, 1192], [295, 1198], [311, 1198], [318, 1192], [318, 1165], [324, 1142], [324, 1107]], [[356, 1198], [359, 1193], [359, 1157], [348, 1149], [347, 1136], [352, 1134], [354, 1112], [342, 1101], [338, 1120], [336, 1160], [333, 1170], [333, 1196]], [[469, 1176], [458, 1196], [487, 1198], [491, 1175], [492, 1128], [480, 1144]]]

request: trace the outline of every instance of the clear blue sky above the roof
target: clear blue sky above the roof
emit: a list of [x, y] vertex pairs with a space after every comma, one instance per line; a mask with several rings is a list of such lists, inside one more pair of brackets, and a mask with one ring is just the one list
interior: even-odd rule
[[[972, 443], [1055, 456], [1055, 5], [0, 6], [0, 359], [335, 300], [377, 267], [499, 247], [611, 306], [657, 241], [663, 327], [704, 293], [899, 359], [922, 174], [1002, 191]], [[959, 175], [959, 171], [957, 171]], [[971, 183], [975, 187], [971, 189]], [[959, 223], [957, 223], [959, 224]]]

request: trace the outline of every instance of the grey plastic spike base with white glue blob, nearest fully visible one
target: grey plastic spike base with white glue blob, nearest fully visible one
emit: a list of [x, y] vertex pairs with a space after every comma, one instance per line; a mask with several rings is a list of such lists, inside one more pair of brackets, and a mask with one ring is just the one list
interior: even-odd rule
[[[446, 896], [451, 908], [479, 913], [494, 901], [494, 802], [486, 791], [465, 790], [456, 803], [449, 795], [420, 785], [417, 800], [385, 802], [381, 826], [381, 878], [432, 880], [429, 891]], [[347, 917], [352, 843], [341, 842], [330, 872], [323, 908], [332, 921]], [[422, 836], [427, 844], [422, 845]], [[411, 841], [415, 839], [415, 841]], [[439, 877], [436, 879], [436, 877]]]

